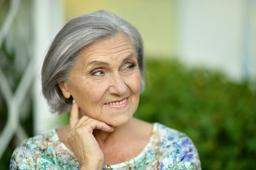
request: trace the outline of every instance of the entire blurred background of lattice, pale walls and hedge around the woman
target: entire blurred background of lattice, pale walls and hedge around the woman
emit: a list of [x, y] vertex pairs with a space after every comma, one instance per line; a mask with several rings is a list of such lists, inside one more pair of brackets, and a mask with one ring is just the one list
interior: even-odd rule
[[185, 132], [204, 170], [256, 167], [256, 0], [0, 0], [0, 169], [24, 139], [67, 124], [41, 94], [54, 36], [105, 9], [133, 24], [146, 51], [135, 117]]

